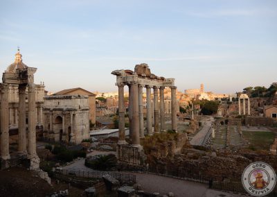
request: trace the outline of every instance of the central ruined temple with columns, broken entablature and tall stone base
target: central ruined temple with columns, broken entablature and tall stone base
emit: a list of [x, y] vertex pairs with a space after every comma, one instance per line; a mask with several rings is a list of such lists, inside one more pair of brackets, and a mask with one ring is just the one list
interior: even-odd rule
[[[163, 89], [171, 88], [171, 114], [172, 130], [177, 131], [177, 98], [175, 79], [163, 78], [151, 74], [147, 64], [136, 65], [134, 71], [116, 70], [111, 74], [116, 76], [116, 85], [118, 86], [118, 160], [127, 162], [127, 164], [141, 165], [141, 156], [143, 149], [140, 145], [140, 138], [145, 135], [143, 126], [143, 87], [146, 88], [147, 100], [147, 135], [154, 132], [165, 131], [165, 105]], [[125, 141], [125, 106], [124, 106], [124, 87], [129, 87], [129, 136], [131, 144], [127, 145]], [[151, 91], [153, 89], [154, 99], [154, 124], [152, 123], [152, 99]], [[160, 94], [160, 109], [158, 104], [158, 94]], [[160, 112], [160, 114], [159, 114]]]

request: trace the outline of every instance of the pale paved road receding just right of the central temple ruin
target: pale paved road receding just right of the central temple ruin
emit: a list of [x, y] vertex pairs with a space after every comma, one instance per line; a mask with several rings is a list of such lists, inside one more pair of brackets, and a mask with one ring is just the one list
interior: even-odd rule
[[208, 117], [204, 121], [202, 121], [203, 128], [197, 132], [197, 134], [190, 140], [191, 145], [199, 145], [201, 146], [204, 142], [205, 136], [208, 130], [211, 128], [211, 124], [213, 123], [213, 117]]

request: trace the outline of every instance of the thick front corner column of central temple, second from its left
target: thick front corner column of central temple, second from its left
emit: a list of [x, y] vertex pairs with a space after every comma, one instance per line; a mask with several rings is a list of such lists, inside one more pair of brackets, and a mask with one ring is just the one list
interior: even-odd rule
[[140, 146], [139, 143], [139, 89], [137, 83], [131, 84], [131, 108], [132, 108], [132, 125], [131, 139], [132, 145]]

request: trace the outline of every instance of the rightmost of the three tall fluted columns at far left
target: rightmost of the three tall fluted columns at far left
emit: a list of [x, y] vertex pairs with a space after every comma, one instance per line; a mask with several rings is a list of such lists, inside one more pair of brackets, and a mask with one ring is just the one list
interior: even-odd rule
[[33, 158], [37, 156], [35, 142], [35, 84], [28, 85], [28, 156]]

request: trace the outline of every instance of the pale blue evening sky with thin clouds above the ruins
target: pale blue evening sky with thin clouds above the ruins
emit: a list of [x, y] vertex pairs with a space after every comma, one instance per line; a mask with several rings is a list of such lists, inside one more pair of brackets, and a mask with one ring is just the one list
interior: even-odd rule
[[117, 91], [116, 69], [147, 63], [179, 91], [277, 82], [276, 0], [0, 0], [0, 72], [37, 67], [46, 90]]

